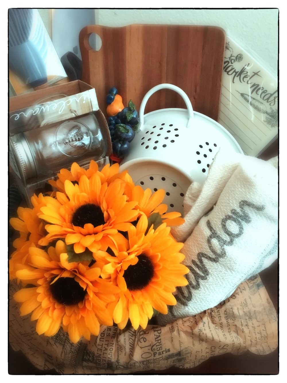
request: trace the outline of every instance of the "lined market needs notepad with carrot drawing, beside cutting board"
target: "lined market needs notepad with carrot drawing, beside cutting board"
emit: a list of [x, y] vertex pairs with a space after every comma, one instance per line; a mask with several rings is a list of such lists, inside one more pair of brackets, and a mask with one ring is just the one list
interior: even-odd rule
[[219, 123], [254, 157], [278, 136], [277, 78], [228, 37]]

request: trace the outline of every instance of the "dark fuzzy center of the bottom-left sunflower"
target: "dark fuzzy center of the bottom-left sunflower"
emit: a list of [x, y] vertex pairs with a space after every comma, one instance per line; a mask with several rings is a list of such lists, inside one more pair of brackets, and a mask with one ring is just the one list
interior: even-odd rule
[[55, 300], [64, 306], [72, 306], [84, 300], [86, 291], [75, 278], [59, 278], [50, 285], [50, 291]]

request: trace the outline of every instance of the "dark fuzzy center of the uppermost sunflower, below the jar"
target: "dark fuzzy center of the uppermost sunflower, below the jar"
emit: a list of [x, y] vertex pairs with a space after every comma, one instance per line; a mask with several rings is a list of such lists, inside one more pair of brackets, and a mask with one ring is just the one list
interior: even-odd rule
[[91, 223], [94, 227], [105, 224], [104, 213], [99, 206], [87, 203], [75, 211], [72, 224], [83, 228], [86, 223]]

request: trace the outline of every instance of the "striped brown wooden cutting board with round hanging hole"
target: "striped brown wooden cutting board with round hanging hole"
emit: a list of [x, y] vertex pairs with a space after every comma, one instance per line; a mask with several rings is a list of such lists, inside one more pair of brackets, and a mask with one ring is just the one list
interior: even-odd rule
[[[101, 48], [91, 48], [96, 33]], [[92, 85], [100, 109], [106, 113], [106, 95], [116, 87], [124, 106], [131, 99], [139, 111], [142, 98], [155, 85], [171, 83], [189, 97], [195, 111], [218, 120], [225, 32], [214, 26], [128, 25], [114, 28], [90, 25], [79, 36], [82, 81]], [[171, 90], [154, 93], [145, 113], [163, 108], [186, 108]]]

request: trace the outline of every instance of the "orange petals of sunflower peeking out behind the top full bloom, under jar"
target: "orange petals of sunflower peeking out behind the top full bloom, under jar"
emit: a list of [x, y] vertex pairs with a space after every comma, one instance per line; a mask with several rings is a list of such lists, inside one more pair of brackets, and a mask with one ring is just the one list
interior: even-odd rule
[[[91, 160], [88, 169], [84, 169], [74, 162], [71, 166], [71, 170], [61, 169], [60, 173], [57, 173], [57, 177], [55, 180], [49, 180], [49, 183], [55, 189], [65, 192], [65, 181], [69, 180], [73, 183], [78, 183], [82, 175], [86, 175], [89, 179], [93, 174], [97, 173], [99, 178], [101, 179], [101, 183], [107, 182], [111, 183], [116, 178], [120, 177], [119, 173], [119, 164], [113, 165], [105, 165], [101, 171], [99, 171], [98, 164], [96, 161]], [[126, 173], [122, 172], [122, 175]], [[124, 177], [122, 177], [124, 178]]]

